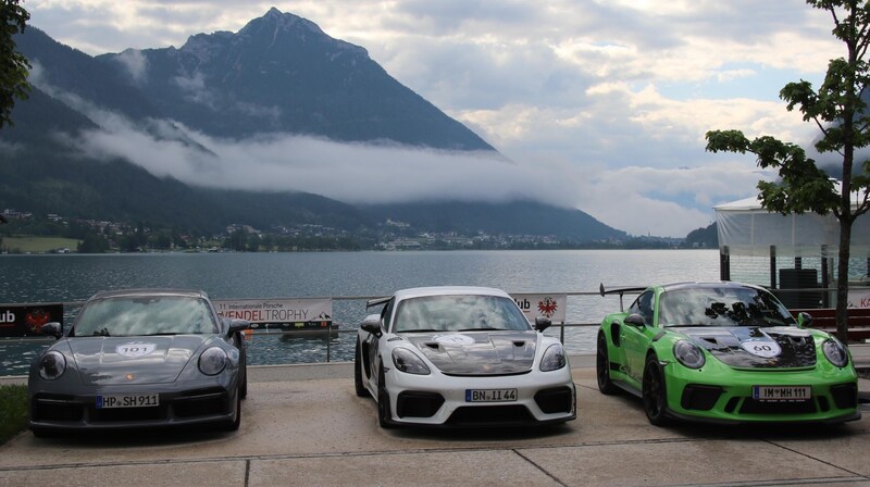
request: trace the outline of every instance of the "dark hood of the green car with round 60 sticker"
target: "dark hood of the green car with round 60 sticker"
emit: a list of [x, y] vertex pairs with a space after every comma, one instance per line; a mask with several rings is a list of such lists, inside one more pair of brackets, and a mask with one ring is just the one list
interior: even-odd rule
[[795, 369], [816, 365], [812, 334], [793, 326], [697, 327], [680, 333], [726, 365], [739, 369]]

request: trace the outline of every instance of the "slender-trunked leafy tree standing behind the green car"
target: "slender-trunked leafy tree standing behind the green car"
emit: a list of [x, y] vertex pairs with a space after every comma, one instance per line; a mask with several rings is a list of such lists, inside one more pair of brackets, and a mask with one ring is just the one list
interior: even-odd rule
[[[807, 0], [816, 9], [828, 11], [834, 23], [834, 37], [843, 41], [846, 57], [831, 60], [818, 91], [808, 82], [790, 83], [780, 98], [788, 111], [797, 108], [805, 122], [811, 122], [822, 137], [815, 147], [819, 153], [835, 153], [843, 160], [840, 187], [808, 159], [800, 147], [770, 136], [754, 140], [739, 130], [707, 133], [707, 150], [753, 153], [761, 167], [779, 170], [780, 180], [759, 182], [761, 204], [782, 214], [807, 211], [833, 213], [840, 222], [840, 252], [836, 271], [836, 328], [848, 342], [848, 263], [852, 227], [870, 209], [870, 160], [856, 162], [856, 151], [870, 145], [870, 116], [861, 93], [870, 84], [866, 61], [870, 46], [870, 2], [859, 0]], [[838, 190], [837, 190], [838, 189]], [[853, 198], [857, 204], [853, 204]]]

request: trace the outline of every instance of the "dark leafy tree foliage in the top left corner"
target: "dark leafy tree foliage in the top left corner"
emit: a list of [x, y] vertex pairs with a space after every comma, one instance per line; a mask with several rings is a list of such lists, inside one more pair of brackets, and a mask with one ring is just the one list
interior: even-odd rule
[[0, 128], [12, 124], [12, 108], [15, 98], [26, 100], [30, 90], [27, 72], [30, 63], [15, 50], [12, 39], [23, 33], [30, 14], [18, 5], [18, 0], [0, 0]]

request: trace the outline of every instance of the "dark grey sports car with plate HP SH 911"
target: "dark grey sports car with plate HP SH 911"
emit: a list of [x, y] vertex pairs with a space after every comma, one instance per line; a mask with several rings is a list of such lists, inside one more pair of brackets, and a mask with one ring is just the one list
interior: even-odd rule
[[135, 289], [88, 299], [30, 364], [30, 429], [216, 424], [235, 430], [247, 395], [243, 332], [202, 291]]

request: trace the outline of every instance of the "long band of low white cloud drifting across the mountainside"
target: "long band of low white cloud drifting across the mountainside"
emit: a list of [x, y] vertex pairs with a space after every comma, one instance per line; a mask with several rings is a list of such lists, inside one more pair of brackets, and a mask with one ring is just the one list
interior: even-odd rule
[[348, 203], [532, 199], [577, 208], [633, 235], [685, 236], [709, 225], [711, 205], [746, 197], [759, 175], [741, 162], [698, 168], [577, 168], [556, 159], [511, 161], [495, 152], [450, 152], [336, 142], [298, 135], [214, 138], [175, 122], [147, 130], [102, 111], [102, 127], [75, 145], [124, 158], [159, 177], [216, 188], [307, 191]]

